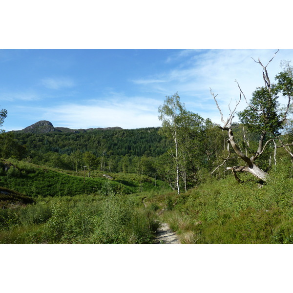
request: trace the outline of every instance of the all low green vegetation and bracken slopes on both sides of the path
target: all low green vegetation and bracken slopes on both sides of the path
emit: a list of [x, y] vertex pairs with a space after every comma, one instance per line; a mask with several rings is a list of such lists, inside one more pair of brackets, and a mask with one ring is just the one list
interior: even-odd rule
[[[15, 166], [34, 174], [33, 181], [1, 175], [1, 185], [24, 194], [9, 191], [7, 197], [8, 189], [1, 188], [6, 197], [1, 197], [0, 243], [152, 243], [163, 221], [183, 244], [293, 242], [293, 178], [286, 166], [273, 170], [262, 187], [252, 176], [239, 185], [231, 175], [178, 195], [159, 180], [155, 186], [146, 177], [141, 185], [134, 174], [124, 174], [124, 184], [99, 177], [85, 178], [84, 184], [82, 174], [35, 166], [32, 172], [31, 164], [22, 164]], [[89, 192], [91, 186], [97, 189]]]

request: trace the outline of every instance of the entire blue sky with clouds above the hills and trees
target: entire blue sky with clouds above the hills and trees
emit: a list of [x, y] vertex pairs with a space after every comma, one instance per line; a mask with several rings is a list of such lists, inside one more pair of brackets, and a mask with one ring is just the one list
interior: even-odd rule
[[[224, 116], [239, 97], [263, 85], [262, 68], [276, 49], [1, 49], [3, 128], [19, 130], [40, 120], [70, 128], [160, 126], [158, 107], [176, 91], [189, 111], [219, 122], [209, 87]], [[273, 80], [281, 49], [268, 66]], [[245, 107], [244, 101], [239, 110]]]

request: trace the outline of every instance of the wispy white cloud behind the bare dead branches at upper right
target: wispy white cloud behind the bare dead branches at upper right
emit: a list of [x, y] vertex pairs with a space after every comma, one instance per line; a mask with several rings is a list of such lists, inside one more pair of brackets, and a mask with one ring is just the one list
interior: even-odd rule
[[[215, 116], [217, 109], [210, 95], [210, 88], [218, 94], [218, 103], [223, 114], [229, 114], [228, 105], [231, 107], [239, 98], [240, 91], [235, 80], [248, 99], [256, 87], [264, 85], [262, 68], [254, 63], [260, 57], [267, 64], [276, 50], [262, 49], [230, 49], [230, 50], [203, 50], [198, 54], [197, 50], [183, 50], [176, 56], [171, 56], [172, 61], [182, 58], [176, 67], [165, 72], [156, 72], [155, 75], [140, 79], [139, 84], [145, 86], [148, 92], [157, 92], [162, 95], [172, 95], [178, 91], [182, 102], [185, 102], [188, 110], [196, 112], [205, 118]], [[268, 66], [268, 72], [273, 81], [274, 76], [281, 70], [281, 60], [293, 59], [292, 50], [280, 50], [274, 60]], [[184, 63], [184, 66], [182, 65]], [[151, 83], [151, 81], [161, 81]], [[138, 81], [134, 81], [138, 84]], [[163, 100], [163, 99], [162, 99]], [[237, 110], [246, 107], [245, 101]]]

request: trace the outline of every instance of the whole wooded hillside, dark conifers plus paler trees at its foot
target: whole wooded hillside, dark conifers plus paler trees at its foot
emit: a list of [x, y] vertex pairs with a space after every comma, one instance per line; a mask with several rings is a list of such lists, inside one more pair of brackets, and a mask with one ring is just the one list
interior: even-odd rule
[[104, 170], [105, 167], [117, 172], [121, 171], [118, 163], [126, 154], [132, 160], [144, 154], [156, 157], [167, 151], [169, 142], [158, 134], [158, 130], [159, 127], [80, 133], [13, 132], [13, 136], [18, 144], [27, 147], [28, 160], [35, 164], [70, 170], [83, 166]]

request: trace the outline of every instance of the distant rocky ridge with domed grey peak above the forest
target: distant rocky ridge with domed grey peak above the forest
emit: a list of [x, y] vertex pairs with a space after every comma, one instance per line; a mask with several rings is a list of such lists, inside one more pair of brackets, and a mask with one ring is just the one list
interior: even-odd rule
[[71, 133], [79, 133], [79, 132], [87, 132], [93, 130], [108, 130], [108, 129], [117, 129], [122, 130], [123, 128], [116, 127], [98, 127], [98, 128], [87, 128], [87, 129], [70, 129], [67, 127], [54, 127], [50, 121], [42, 120], [31, 126], [27, 126], [22, 130], [16, 130], [15, 132], [25, 132], [25, 133], [48, 133], [48, 132], [71, 132]]

